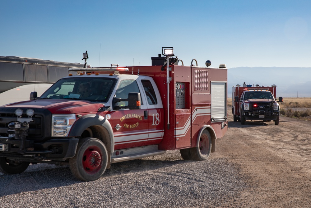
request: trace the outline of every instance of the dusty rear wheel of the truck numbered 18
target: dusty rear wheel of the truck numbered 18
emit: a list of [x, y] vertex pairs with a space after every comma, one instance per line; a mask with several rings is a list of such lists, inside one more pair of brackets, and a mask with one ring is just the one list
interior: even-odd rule
[[200, 135], [197, 147], [190, 148], [189, 152], [192, 160], [202, 161], [207, 160], [211, 154], [212, 140], [211, 135], [207, 129], [203, 130]]

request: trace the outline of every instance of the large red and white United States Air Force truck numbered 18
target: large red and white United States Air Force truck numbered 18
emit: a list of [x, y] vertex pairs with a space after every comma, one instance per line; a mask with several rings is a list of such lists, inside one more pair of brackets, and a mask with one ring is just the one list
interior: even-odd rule
[[111, 163], [166, 150], [206, 160], [228, 129], [227, 69], [178, 65], [171, 47], [162, 54], [151, 66], [72, 68], [42, 96], [0, 107], [0, 171], [69, 164], [91, 181]]

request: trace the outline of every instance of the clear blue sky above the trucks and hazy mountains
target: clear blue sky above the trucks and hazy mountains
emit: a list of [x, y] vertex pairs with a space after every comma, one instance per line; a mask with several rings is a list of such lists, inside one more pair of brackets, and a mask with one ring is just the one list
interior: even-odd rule
[[311, 67], [311, 1], [16, 1], [0, 7], [0, 56], [151, 65], [162, 46], [190, 65]]

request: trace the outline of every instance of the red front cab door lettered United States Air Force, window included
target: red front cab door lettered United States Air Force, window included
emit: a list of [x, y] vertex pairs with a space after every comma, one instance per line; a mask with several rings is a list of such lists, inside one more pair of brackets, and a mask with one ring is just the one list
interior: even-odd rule
[[[142, 94], [137, 81], [134, 79], [121, 80], [117, 83], [114, 98], [128, 99], [128, 94], [133, 92]], [[146, 117], [147, 106], [142, 103], [141, 109], [127, 109], [128, 101], [114, 103], [115, 99], [112, 100], [111, 119], [109, 121], [112, 123], [114, 132], [114, 149], [145, 146], [149, 136], [149, 120]]]

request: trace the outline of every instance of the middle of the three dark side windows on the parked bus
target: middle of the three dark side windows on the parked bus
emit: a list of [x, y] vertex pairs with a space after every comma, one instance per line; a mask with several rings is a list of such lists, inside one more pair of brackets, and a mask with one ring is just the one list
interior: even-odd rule
[[48, 68], [46, 65], [25, 64], [26, 81], [48, 82]]

